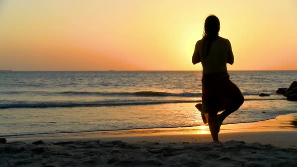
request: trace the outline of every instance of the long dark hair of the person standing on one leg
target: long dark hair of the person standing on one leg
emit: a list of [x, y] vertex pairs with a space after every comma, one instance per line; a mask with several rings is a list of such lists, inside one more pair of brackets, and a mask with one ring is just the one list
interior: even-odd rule
[[202, 59], [205, 59], [208, 56], [212, 42], [218, 37], [219, 28], [219, 20], [216, 16], [209, 15], [205, 19], [203, 29]]

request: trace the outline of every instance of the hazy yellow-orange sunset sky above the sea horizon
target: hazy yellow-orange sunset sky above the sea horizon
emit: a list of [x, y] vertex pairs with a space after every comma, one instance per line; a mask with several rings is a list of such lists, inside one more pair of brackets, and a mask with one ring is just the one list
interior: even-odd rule
[[201, 70], [191, 57], [210, 14], [229, 70], [297, 70], [296, 0], [0, 0], [0, 69]]

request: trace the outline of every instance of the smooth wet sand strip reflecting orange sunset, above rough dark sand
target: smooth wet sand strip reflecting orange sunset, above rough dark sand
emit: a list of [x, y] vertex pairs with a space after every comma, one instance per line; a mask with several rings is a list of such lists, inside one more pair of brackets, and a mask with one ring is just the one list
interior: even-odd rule
[[[220, 141], [243, 140], [260, 142], [282, 147], [296, 147], [297, 142], [297, 113], [279, 115], [265, 121], [226, 124], [221, 126]], [[250, 136], [250, 137], [249, 137]], [[270, 136], [270, 138], [266, 137]], [[286, 137], [287, 136], [287, 137]], [[178, 128], [148, 128], [112, 131], [91, 131], [71, 133], [50, 133], [5, 137], [8, 142], [25, 141], [69, 141], [69, 140], [122, 140], [133, 143], [137, 141], [149, 142], [211, 142], [207, 125]], [[272, 140], [274, 139], [274, 140]], [[285, 141], [285, 142], [284, 142]]]

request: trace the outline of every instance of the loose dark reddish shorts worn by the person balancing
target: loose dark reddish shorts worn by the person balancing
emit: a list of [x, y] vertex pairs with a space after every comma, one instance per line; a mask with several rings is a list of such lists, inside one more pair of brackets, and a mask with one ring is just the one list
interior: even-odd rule
[[202, 111], [219, 112], [242, 101], [239, 88], [229, 79], [227, 72], [216, 72], [202, 77]]

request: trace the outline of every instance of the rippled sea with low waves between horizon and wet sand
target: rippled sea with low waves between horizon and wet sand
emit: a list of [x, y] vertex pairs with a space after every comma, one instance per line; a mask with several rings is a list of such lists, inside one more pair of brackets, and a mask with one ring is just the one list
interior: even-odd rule
[[[224, 124], [297, 113], [297, 71], [231, 71], [245, 103]], [[201, 71], [0, 72], [0, 136], [202, 125]], [[259, 97], [260, 93], [270, 97]]]

